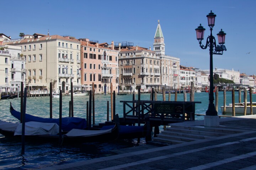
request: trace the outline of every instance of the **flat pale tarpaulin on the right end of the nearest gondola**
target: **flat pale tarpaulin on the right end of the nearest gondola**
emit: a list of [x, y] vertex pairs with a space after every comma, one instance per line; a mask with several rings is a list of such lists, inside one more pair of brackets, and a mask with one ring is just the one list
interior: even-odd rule
[[112, 129], [107, 130], [80, 130], [80, 129], [72, 129], [70, 130], [66, 136], [96, 136], [106, 133], [111, 133]]

